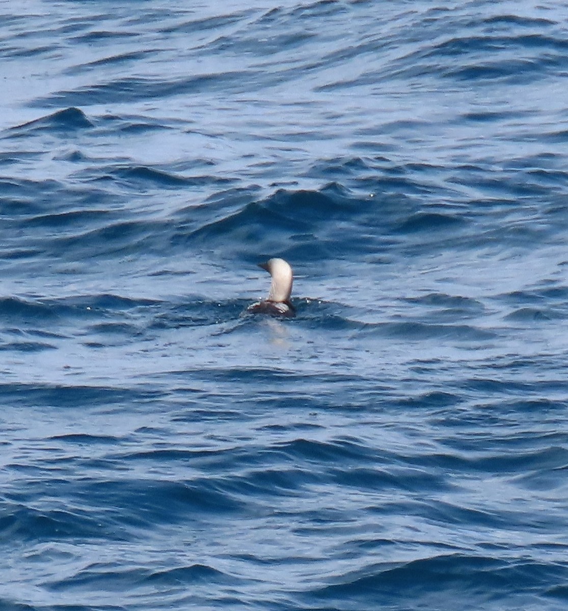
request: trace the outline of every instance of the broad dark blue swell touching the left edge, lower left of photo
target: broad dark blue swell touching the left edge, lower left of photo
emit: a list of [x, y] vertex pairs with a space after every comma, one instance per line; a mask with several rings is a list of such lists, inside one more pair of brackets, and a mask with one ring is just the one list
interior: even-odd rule
[[[178, 524], [193, 529], [255, 511], [257, 501], [246, 494], [246, 478], [242, 478], [242, 485], [238, 485], [238, 480], [232, 483], [219, 477], [201, 477], [187, 482], [135, 480], [122, 477], [124, 469], [109, 459], [72, 459], [67, 463], [67, 471], [76, 464], [87, 472], [97, 470], [100, 475], [96, 480], [88, 477], [62, 479], [54, 474], [61, 472], [64, 475], [64, 470], [52, 466], [49, 470], [44, 469], [40, 477], [29, 477], [25, 491], [7, 490], [4, 516], [0, 516], [3, 538], [12, 537], [18, 541], [147, 540], [147, 529], [163, 527], [167, 530]], [[12, 471], [17, 467], [10, 465]], [[118, 474], [119, 479], [111, 479], [111, 474]], [[28, 507], [33, 498], [42, 498], [45, 508]], [[61, 505], [61, 499], [65, 499], [65, 510], [56, 508]]]

